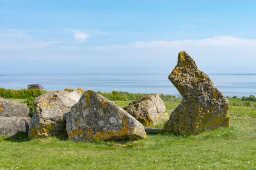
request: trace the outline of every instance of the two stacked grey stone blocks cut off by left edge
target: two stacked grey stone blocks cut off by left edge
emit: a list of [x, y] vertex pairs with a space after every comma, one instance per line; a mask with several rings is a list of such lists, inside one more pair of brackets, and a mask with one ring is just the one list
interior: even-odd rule
[[28, 132], [29, 108], [26, 104], [0, 98], [0, 135]]

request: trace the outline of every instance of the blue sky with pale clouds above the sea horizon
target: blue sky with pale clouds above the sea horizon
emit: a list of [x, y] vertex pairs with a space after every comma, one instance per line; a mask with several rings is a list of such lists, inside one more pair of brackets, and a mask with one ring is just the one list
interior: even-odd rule
[[256, 1], [0, 0], [0, 74], [256, 73]]

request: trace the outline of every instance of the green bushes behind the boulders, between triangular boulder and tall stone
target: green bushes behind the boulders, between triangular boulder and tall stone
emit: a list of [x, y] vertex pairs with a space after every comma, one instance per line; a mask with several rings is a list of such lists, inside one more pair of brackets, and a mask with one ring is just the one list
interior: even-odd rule
[[[104, 93], [98, 92], [98, 93], [111, 101], [134, 101], [134, 100], [140, 99], [142, 97], [148, 96], [148, 94], [139, 94], [139, 93], [132, 94], [129, 92], [116, 92], [116, 91], [113, 91], [112, 93], [106, 93], [106, 92], [104, 92]], [[174, 101], [175, 100], [175, 96], [171, 96], [171, 95], [161, 94], [160, 97], [161, 97], [161, 99], [163, 99], [163, 101]]]

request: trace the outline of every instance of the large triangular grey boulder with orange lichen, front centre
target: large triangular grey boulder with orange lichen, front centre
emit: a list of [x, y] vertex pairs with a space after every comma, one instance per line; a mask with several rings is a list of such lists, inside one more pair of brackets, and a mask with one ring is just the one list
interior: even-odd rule
[[72, 106], [66, 121], [68, 138], [76, 142], [146, 138], [138, 120], [93, 90]]

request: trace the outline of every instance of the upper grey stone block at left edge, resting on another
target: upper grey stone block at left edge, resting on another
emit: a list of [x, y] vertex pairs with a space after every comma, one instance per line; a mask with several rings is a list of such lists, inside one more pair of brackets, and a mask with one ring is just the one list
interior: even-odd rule
[[0, 117], [29, 117], [26, 104], [8, 101], [0, 97]]

